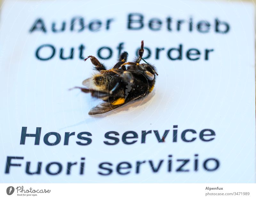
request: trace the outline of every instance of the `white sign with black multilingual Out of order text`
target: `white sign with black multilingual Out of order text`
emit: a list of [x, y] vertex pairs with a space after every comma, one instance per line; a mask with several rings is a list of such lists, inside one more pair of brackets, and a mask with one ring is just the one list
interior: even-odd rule
[[[199, 1], [5, 1], [0, 182], [255, 179], [254, 10]], [[146, 98], [88, 115], [73, 89], [120, 52], [156, 66]], [[141, 63], [145, 63], [141, 61]]]

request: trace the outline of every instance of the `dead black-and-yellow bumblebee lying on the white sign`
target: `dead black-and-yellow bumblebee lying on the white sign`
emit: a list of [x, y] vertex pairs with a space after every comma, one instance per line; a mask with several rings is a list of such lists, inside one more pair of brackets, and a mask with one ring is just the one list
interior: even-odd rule
[[[123, 52], [116, 65], [110, 70], [93, 56], [91, 58], [94, 68], [99, 73], [83, 81], [86, 88], [80, 88], [85, 93], [91, 93], [93, 97], [102, 99], [104, 102], [93, 107], [89, 115], [105, 113], [116, 109], [132, 100], [147, 96], [154, 88], [156, 82], [156, 68], [148, 64], [143, 58], [144, 42], [141, 41], [139, 56], [134, 62], [127, 61], [127, 52]], [[84, 59], [84, 61], [86, 61]], [[140, 64], [143, 59], [146, 64]]]

